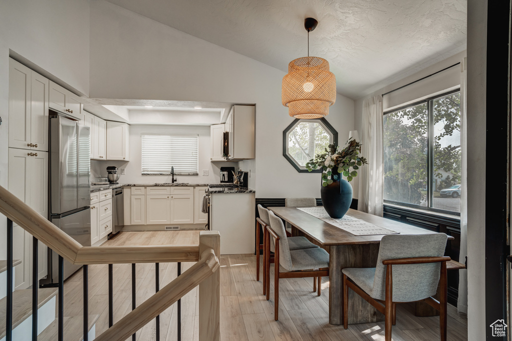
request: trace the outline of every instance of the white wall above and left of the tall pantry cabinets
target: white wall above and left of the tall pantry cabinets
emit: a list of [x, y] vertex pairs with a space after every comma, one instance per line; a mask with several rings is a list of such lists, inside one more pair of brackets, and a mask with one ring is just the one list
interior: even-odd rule
[[[89, 1], [3, 0], [0, 2], [0, 185], [7, 187], [9, 50], [89, 93]], [[38, 70], [38, 71], [40, 71]], [[0, 258], [6, 219], [0, 217]]]

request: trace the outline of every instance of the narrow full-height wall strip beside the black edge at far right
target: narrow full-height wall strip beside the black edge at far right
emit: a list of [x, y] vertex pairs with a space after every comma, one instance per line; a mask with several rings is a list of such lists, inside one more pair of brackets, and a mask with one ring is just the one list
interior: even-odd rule
[[[467, 335], [485, 339], [487, 1], [467, 2]], [[507, 72], [507, 70], [503, 70]]]

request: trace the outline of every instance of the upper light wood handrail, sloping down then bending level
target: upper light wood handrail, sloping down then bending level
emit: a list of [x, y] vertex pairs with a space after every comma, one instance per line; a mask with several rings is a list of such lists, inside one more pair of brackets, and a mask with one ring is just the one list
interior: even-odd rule
[[82, 246], [0, 186], [0, 213], [73, 264], [197, 262], [198, 245]]

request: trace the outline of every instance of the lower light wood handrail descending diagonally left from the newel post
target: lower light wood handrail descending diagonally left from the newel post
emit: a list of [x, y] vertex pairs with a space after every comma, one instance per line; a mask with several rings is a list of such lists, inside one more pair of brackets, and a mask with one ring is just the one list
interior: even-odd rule
[[167, 284], [119, 322], [95, 338], [96, 341], [121, 341], [128, 338], [165, 309], [177, 302], [190, 290], [219, 269], [219, 260], [213, 249], [204, 251], [201, 260], [181, 276]]

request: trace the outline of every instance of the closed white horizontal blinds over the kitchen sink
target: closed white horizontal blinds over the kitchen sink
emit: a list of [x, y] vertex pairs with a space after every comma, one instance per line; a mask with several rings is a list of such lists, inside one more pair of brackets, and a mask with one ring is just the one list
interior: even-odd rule
[[198, 135], [142, 135], [142, 175], [199, 174]]

